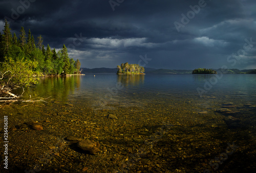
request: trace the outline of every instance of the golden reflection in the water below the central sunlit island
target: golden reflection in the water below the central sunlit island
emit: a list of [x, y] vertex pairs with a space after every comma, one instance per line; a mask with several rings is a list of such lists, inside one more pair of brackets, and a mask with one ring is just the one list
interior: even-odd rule
[[144, 75], [117, 75], [117, 82], [123, 86], [139, 86], [144, 83]]

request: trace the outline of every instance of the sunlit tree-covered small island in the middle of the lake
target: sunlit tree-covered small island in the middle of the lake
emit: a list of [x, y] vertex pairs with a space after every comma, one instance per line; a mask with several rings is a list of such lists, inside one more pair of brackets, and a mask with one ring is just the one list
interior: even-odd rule
[[117, 66], [117, 75], [145, 75], [145, 69], [139, 64], [122, 63]]

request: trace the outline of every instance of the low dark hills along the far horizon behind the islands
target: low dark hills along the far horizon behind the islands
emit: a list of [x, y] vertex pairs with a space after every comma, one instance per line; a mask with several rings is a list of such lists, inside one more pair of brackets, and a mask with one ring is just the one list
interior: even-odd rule
[[[117, 68], [81, 68], [82, 73], [116, 73]], [[217, 72], [221, 71], [221, 69], [214, 69]], [[147, 68], [145, 67], [145, 73], [150, 73], [150, 74], [192, 74], [193, 70], [171, 70], [171, 69], [155, 69], [155, 68]], [[241, 74], [241, 73], [255, 73], [255, 69], [244, 69], [244, 70], [239, 70], [236, 68], [232, 69], [226, 69], [224, 73], [228, 74]]]

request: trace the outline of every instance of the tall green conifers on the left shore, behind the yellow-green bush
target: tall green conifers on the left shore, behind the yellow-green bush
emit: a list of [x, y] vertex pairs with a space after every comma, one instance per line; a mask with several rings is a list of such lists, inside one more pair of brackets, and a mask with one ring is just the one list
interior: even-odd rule
[[[79, 60], [74, 61], [69, 58], [68, 49], [65, 45], [63, 45], [62, 50], [58, 53], [56, 53], [55, 48], [51, 50], [49, 44], [45, 49], [44, 44], [42, 44], [43, 38], [41, 35], [37, 37], [35, 45], [34, 36], [31, 31], [29, 30], [28, 37], [26, 37], [23, 27], [20, 29], [19, 38], [17, 38], [15, 33], [12, 37], [7, 20], [5, 21], [3, 31], [3, 35], [0, 32], [0, 62], [4, 62], [2, 63], [1, 71], [8, 69], [10, 67], [8, 64], [14, 64], [14, 62], [16, 64], [22, 63], [20, 65], [31, 65], [29, 62], [36, 62], [36, 66], [33, 66], [32, 71], [44, 73], [44, 75], [74, 73], [77, 69], [79, 71], [81, 65]], [[21, 66], [20, 69], [22, 68]], [[20, 74], [23, 74], [23, 70], [20, 70]]]

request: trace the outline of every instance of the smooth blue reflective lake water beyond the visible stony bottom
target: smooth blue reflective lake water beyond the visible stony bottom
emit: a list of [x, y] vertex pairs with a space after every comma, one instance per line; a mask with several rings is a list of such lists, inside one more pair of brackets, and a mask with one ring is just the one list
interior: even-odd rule
[[[212, 75], [137, 75], [96, 74], [86, 76], [42, 78], [35, 87], [28, 88], [25, 97], [87, 98], [92, 102], [99, 100], [123, 100], [136, 98], [138, 101], [155, 98], [177, 100], [197, 100], [202, 104], [204, 98], [216, 97], [209, 102], [256, 102], [255, 75], [224, 75], [206, 85]], [[198, 91], [198, 88], [200, 90]], [[203, 92], [205, 91], [205, 92]], [[77, 102], [79, 102], [79, 99]], [[216, 102], [217, 101], [217, 102]]]

